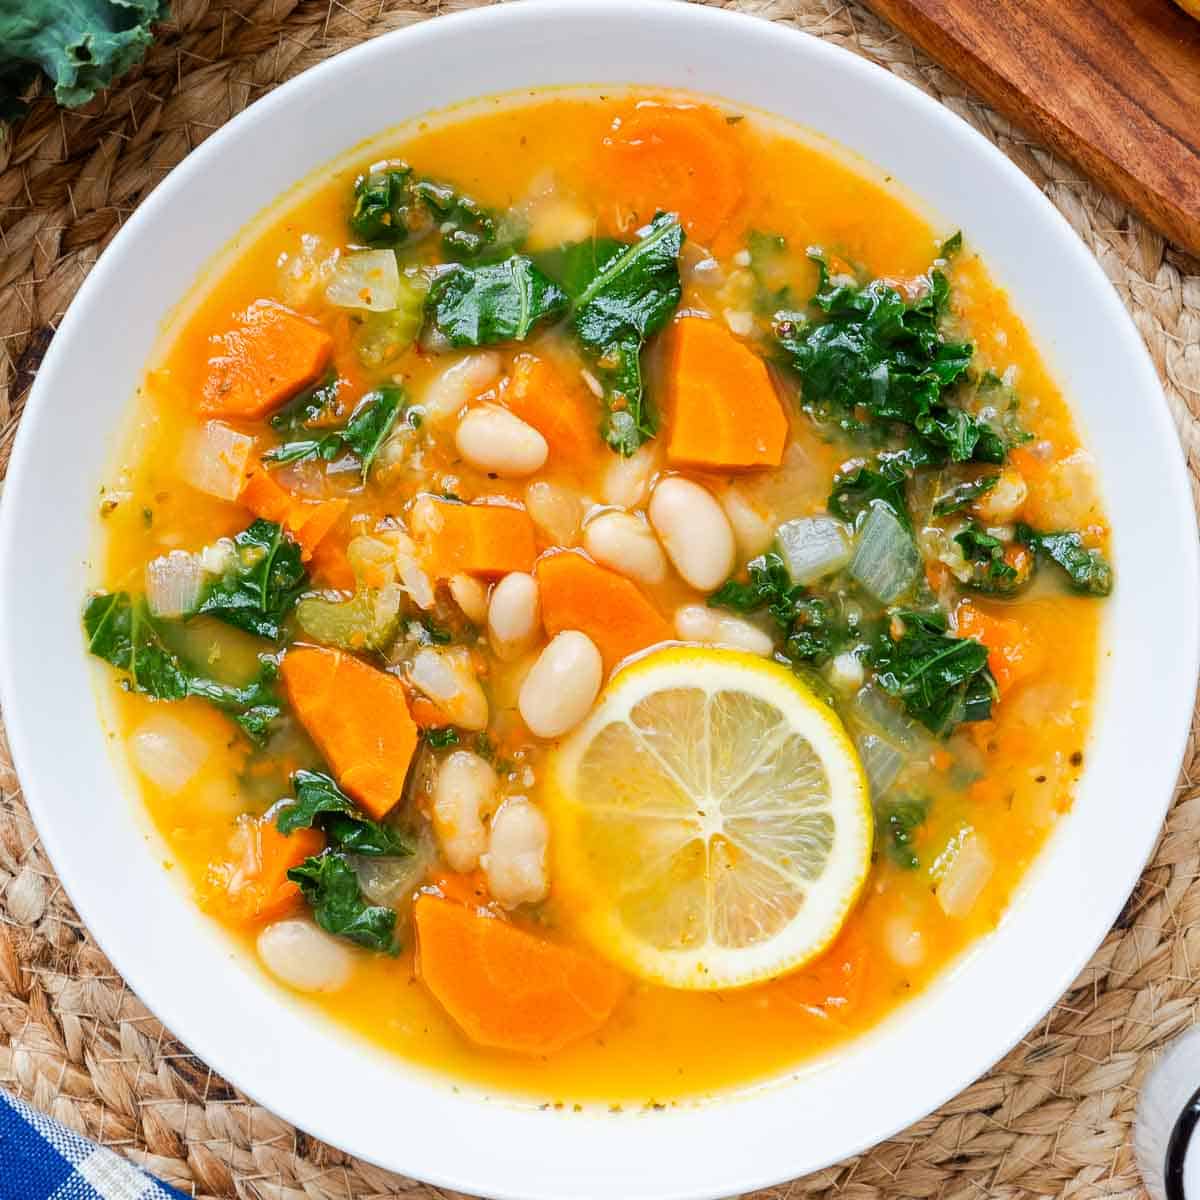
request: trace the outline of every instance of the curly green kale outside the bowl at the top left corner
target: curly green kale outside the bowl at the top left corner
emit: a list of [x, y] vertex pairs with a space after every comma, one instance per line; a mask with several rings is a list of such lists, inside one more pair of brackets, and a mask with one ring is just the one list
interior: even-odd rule
[[150, 25], [167, 16], [167, 0], [0, 5], [0, 119], [25, 112], [20, 96], [38, 68], [60, 104], [85, 104], [142, 60], [154, 41]]

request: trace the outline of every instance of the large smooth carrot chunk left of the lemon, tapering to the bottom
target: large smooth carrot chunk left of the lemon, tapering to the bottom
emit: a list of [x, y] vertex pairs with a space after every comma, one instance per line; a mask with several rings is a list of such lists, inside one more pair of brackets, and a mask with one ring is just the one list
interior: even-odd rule
[[416, 749], [404, 685], [349, 654], [316, 647], [288, 650], [280, 677], [337, 782], [371, 816], [386, 816]]

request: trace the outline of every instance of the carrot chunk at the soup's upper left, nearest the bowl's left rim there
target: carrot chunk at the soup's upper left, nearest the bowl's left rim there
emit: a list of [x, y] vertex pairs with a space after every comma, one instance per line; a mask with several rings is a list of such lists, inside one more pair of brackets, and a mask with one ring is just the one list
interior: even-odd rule
[[240, 323], [216, 338], [200, 412], [257, 420], [316, 383], [334, 341], [319, 325], [282, 305], [252, 305]]

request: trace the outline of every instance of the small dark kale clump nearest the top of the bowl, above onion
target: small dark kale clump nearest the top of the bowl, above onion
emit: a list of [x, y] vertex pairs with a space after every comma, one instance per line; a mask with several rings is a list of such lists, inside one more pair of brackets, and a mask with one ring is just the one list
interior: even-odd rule
[[383, 163], [354, 182], [350, 230], [367, 246], [403, 246], [442, 232], [451, 257], [470, 258], [496, 240], [496, 220], [449, 184], [416, 179], [408, 163]]

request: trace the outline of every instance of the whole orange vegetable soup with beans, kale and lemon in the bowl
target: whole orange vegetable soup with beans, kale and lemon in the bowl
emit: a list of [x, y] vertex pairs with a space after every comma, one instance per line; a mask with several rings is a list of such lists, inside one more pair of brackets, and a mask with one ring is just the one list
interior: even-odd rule
[[548, 92], [280, 202], [167, 331], [85, 636], [197, 904], [404, 1060], [668, 1103], [1002, 916], [1112, 586], [966, 236], [763, 116]]

